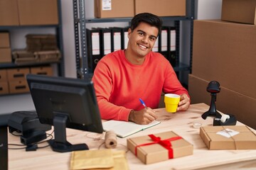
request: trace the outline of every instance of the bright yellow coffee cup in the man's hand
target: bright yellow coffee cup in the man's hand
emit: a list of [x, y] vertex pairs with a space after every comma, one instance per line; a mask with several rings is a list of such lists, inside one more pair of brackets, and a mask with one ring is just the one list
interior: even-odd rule
[[181, 96], [179, 96], [178, 94], [165, 94], [164, 103], [166, 106], [166, 111], [169, 113], [176, 113], [180, 98]]

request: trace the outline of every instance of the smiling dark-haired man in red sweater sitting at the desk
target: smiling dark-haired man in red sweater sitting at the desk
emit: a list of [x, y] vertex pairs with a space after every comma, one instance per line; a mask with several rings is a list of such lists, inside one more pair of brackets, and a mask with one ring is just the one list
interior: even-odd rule
[[161, 19], [151, 13], [137, 14], [128, 30], [127, 49], [112, 52], [97, 63], [92, 81], [102, 119], [151, 123], [157, 118], [152, 108], [159, 106], [162, 91], [181, 96], [177, 111], [188, 109], [188, 91], [170, 62], [151, 51], [161, 24]]

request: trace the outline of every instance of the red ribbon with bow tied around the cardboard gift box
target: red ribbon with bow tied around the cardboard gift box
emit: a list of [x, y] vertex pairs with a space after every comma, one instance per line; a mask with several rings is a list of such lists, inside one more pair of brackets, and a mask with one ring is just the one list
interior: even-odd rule
[[169, 139], [166, 140], [161, 140], [161, 137], [156, 137], [155, 135], [149, 135], [149, 137], [151, 138], [151, 140], [153, 140], [154, 142], [150, 142], [150, 143], [146, 143], [146, 144], [142, 144], [142, 145], [137, 145], [135, 147], [135, 155], [137, 156], [137, 147], [143, 147], [143, 146], [147, 146], [147, 145], [153, 145], [158, 143], [159, 145], [161, 145], [162, 147], [168, 149], [169, 151], [169, 159], [173, 159], [174, 158], [174, 150], [171, 147], [171, 141], [174, 140], [181, 140], [182, 137], [171, 137]]

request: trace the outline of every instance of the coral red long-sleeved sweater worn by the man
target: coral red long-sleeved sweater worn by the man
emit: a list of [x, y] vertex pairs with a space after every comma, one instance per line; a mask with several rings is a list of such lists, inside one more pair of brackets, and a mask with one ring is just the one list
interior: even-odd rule
[[102, 119], [128, 121], [132, 109], [157, 108], [161, 92], [187, 94], [166, 58], [149, 52], [142, 65], [128, 62], [124, 50], [112, 52], [97, 63], [92, 77]]

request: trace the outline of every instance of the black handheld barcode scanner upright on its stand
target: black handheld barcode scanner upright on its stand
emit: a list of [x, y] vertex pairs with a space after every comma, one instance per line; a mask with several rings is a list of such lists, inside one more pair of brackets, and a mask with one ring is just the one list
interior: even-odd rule
[[220, 113], [218, 113], [215, 106], [217, 93], [220, 92], [220, 84], [218, 83], [218, 81], [210, 81], [206, 90], [210, 92], [211, 101], [210, 101], [209, 111], [203, 113], [202, 118], [206, 119], [207, 116], [214, 116], [215, 118], [221, 118], [221, 115]]

